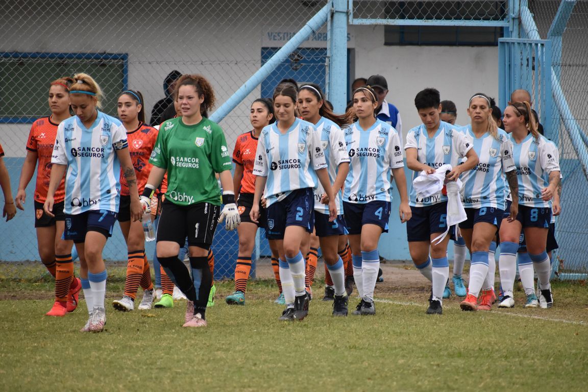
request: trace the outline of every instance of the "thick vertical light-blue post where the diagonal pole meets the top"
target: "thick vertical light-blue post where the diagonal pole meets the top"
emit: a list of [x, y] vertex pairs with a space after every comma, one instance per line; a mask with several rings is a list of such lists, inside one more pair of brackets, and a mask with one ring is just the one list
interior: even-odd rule
[[328, 29], [329, 68], [327, 96], [336, 113], [347, 106], [347, 2], [333, 0]]

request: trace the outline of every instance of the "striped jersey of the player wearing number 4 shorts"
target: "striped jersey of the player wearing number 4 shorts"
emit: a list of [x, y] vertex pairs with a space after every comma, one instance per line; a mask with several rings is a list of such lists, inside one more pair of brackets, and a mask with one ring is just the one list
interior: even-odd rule
[[359, 122], [345, 130], [349, 175], [343, 200], [349, 203], [390, 202], [390, 169], [404, 167], [400, 138], [389, 124], [376, 119], [369, 129]]

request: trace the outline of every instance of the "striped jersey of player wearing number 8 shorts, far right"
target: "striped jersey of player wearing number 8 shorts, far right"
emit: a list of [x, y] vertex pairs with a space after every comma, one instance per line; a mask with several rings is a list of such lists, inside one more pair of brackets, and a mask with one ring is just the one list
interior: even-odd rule
[[[516, 175], [519, 180], [519, 204], [528, 207], [551, 207], [551, 201], [541, 200], [541, 190], [549, 185], [549, 173], [559, 168], [559, 151], [556, 145], [544, 136], [535, 140], [529, 133], [517, 143], [509, 134], [513, 145]], [[508, 192], [508, 190], [507, 190]], [[510, 200], [510, 192], [507, 198]]]

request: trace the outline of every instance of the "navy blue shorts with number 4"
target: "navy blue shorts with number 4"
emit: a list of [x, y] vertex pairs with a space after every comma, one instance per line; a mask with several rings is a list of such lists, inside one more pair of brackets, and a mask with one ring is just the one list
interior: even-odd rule
[[362, 226], [368, 223], [382, 227], [382, 232], [388, 232], [392, 203], [377, 200], [369, 203], [343, 202], [345, 222], [349, 234], [361, 234]]

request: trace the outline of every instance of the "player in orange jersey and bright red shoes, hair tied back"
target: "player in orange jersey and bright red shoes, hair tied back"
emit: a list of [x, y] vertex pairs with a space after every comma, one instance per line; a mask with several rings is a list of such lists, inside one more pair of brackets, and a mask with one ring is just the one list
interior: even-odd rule
[[[65, 222], [64, 179], [61, 180], [54, 196], [53, 212], [55, 217], [47, 215], [43, 210], [51, 177], [51, 155], [57, 135], [57, 126], [62, 120], [71, 117], [69, 113], [69, 86], [72, 83], [73, 79], [71, 78], [61, 78], [51, 82], [49, 87], [51, 115], [36, 120], [31, 126], [31, 132], [26, 142], [26, 158], [22, 165], [15, 198], [16, 207], [24, 210], [25, 189], [35, 173], [38, 162], [34, 193], [37, 245], [41, 261], [55, 278], [55, 303], [46, 316], [65, 316], [68, 311], [74, 311], [78, 307], [79, 290], [82, 289], [81, 280], [74, 277], [74, 262], [71, 253], [55, 254], [58, 244], [64, 243], [62, 240]], [[63, 245], [65, 246], [65, 243]]]

